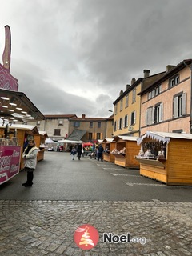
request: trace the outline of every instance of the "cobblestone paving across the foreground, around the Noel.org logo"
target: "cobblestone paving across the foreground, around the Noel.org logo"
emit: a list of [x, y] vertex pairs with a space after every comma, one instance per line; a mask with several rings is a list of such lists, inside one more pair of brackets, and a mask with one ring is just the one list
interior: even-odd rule
[[[0, 255], [192, 255], [192, 203], [0, 201]], [[99, 242], [82, 250], [74, 231], [94, 226]], [[145, 237], [146, 244], [103, 242], [103, 233]]]

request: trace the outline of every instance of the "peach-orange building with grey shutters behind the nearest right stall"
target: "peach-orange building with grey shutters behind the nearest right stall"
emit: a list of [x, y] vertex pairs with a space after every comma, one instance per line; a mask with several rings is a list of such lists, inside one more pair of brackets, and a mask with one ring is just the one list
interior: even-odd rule
[[167, 66], [141, 95], [141, 131], [192, 133], [192, 59]]

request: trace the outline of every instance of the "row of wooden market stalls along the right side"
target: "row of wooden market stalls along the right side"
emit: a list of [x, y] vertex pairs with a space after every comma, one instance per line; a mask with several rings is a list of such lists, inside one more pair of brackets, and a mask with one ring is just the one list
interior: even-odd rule
[[140, 138], [105, 138], [104, 160], [138, 168], [140, 174], [167, 185], [192, 185], [192, 134], [150, 132]]

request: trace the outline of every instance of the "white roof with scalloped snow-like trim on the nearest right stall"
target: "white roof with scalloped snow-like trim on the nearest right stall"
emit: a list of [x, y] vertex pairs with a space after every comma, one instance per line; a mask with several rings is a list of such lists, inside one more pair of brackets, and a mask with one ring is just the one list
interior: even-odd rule
[[192, 139], [192, 134], [178, 134], [178, 133], [165, 133], [160, 131], [146, 131], [146, 134], [143, 134], [138, 138], [138, 145], [141, 144], [144, 138], [155, 139], [162, 143], [169, 143], [171, 138], [178, 139]]

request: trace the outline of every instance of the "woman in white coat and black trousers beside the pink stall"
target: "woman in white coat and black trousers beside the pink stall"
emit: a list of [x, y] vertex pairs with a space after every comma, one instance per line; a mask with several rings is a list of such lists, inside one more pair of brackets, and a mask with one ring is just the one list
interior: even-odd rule
[[22, 183], [22, 186], [32, 186], [34, 179], [34, 170], [37, 165], [38, 148], [35, 146], [34, 140], [30, 139], [28, 146], [22, 153], [24, 158], [25, 170], [27, 173], [26, 183]]

